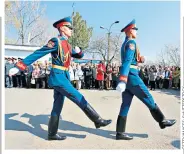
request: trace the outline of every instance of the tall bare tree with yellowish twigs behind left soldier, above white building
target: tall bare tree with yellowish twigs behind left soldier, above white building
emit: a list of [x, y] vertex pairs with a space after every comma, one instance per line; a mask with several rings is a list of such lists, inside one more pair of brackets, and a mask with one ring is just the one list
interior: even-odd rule
[[24, 45], [27, 41], [37, 45], [40, 45], [40, 41], [43, 43], [40, 39], [46, 33], [48, 23], [43, 17], [45, 8], [40, 7], [39, 1], [5, 2], [6, 33], [16, 31], [15, 44]]

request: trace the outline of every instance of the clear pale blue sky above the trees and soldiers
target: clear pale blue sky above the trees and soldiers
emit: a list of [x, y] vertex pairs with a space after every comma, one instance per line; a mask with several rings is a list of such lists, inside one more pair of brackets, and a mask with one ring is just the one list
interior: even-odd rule
[[[74, 1], [41, 1], [46, 5], [46, 18], [51, 23], [71, 16]], [[155, 61], [165, 45], [180, 45], [180, 2], [179, 1], [76, 1], [74, 11], [79, 12], [89, 27], [93, 27], [93, 37], [106, 35], [100, 26], [111, 28], [112, 35], [133, 19], [138, 27], [136, 42], [141, 55]], [[54, 29], [53, 29], [54, 30]], [[125, 34], [123, 33], [124, 40]]]

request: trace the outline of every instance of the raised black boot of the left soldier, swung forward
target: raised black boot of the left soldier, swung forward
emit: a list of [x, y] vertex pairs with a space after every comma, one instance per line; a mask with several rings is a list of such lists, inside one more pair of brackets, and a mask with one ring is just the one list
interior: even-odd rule
[[95, 123], [96, 128], [107, 126], [112, 122], [112, 120], [102, 119], [90, 104], [87, 104], [83, 111]]

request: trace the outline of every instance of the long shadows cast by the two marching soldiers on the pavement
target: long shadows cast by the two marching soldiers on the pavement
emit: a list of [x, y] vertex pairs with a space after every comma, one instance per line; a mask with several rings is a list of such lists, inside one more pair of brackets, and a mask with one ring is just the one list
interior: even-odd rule
[[[18, 113], [11, 113], [11, 114], [5, 115], [5, 130], [27, 131], [37, 137], [40, 137], [45, 140], [47, 139], [47, 131], [42, 129], [41, 124], [48, 125], [50, 115], [30, 115], [28, 113], [21, 115], [21, 117], [29, 119], [28, 123], [31, 126], [25, 124], [24, 122], [11, 119], [16, 115], [18, 115]], [[66, 131], [67, 130], [82, 131], [82, 132], [87, 132], [90, 134], [98, 135], [109, 139], [115, 139], [115, 135], [116, 135], [115, 131], [103, 130], [103, 128], [96, 129], [96, 128], [84, 127], [84, 126], [75, 124], [71, 121], [65, 121], [65, 120], [60, 120], [59, 129], [66, 130]], [[79, 135], [79, 134], [69, 134], [69, 133], [61, 133], [61, 134], [66, 135], [67, 137], [74, 137], [74, 138], [80, 138], [80, 139], [84, 139], [86, 137], [86, 135]], [[147, 134], [135, 134], [135, 133], [128, 133], [128, 134], [139, 138], [148, 137]]]

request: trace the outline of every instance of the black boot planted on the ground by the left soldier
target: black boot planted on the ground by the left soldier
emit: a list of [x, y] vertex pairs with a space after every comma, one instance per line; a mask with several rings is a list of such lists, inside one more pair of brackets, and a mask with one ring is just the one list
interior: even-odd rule
[[66, 136], [57, 134], [59, 124], [59, 116], [51, 116], [48, 125], [48, 140], [65, 140]]

